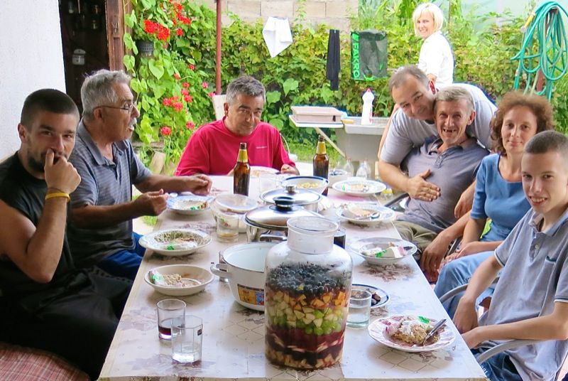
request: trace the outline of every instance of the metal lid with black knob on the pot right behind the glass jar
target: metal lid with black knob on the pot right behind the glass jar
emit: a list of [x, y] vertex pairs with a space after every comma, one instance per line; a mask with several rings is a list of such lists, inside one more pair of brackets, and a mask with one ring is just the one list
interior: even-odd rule
[[[320, 216], [318, 213], [293, 205], [293, 200], [276, 197], [275, 205], [266, 205], [246, 213], [244, 220], [249, 225], [272, 230], [288, 230], [286, 222], [293, 217]], [[321, 217], [321, 216], [320, 216]]]

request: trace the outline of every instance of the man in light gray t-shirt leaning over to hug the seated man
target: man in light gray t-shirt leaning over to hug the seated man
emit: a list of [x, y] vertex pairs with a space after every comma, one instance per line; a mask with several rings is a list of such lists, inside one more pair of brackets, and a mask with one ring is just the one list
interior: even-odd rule
[[[488, 100], [479, 87], [455, 84], [469, 92], [474, 102], [475, 117], [468, 133], [475, 136], [482, 146], [491, 149], [489, 122], [496, 106]], [[434, 123], [434, 100], [437, 89], [422, 70], [415, 65], [398, 69], [389, 81], [389, 89], [395, 103], [400, 107], [393, 113], [388, 131], [381, 139], [378, 169], [383, 181], [400, 189], [410, 198], [432, 201], [439, 196], [440, 186], [430, 178], [430, 173], [409, 177], [400, 169], [400, 163], [415, 147], [422, 146], [427, 137], [436, 135]], [[474, 186], [460, 198], [455, 214], [464, 215], [471, 209]]]

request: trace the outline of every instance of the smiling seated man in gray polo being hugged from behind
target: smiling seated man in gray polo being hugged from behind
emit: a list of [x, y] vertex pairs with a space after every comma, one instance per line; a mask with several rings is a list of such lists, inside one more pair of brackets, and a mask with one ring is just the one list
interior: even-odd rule
[[454, 208], [461, 193], [474, 181], [481, 159], [488, 151], [466, 134], [475, 117], [474, 104], [463, 87], [440, 90], [435, 100], [435, 123], [440, 136], [431, 136], [408, 154], [403, 165], [409, 176], [430, 172], [442, 188], [430, 202], [411, 199], [405, 213], [395, 221], [400, 235], [422, 252], [420, 267], [430, 279], [437, 277], [449, 242], [463, 234], [467, 215], [460, 220]]

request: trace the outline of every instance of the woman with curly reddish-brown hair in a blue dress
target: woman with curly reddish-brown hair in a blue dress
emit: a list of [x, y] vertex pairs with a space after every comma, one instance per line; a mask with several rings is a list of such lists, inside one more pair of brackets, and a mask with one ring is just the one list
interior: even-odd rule
[[[498, 104], [491, 120], [495, 153], [481, 161], [461, 247], [445, 261], [435, 287], [437, 296], [467, 284], [479, 264], [493, 254], [530, 209], [523, 192], [520, 161], [530, 138], [550, 129], [554, 129], [552, 107], [545, 97], [508, 92]], [[490, 229], [482, 235], [488, 219]], [[491, 294], [491, 289], [481, 294], [478, 304]], [[450, 316], [458, 300], [459, 296], [444, 303]]]

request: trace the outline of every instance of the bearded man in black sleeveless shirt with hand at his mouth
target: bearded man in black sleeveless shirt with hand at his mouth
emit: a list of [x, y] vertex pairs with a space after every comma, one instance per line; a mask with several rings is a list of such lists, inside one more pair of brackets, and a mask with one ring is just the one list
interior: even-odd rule
[[0, 340], [62, 355], [96, 379], [131, 283], [72, 261], [67, 201], [81, 179], [67, 158], [78, 122], [70, 97], [33, 92], [21, 147], [0, 164]]

